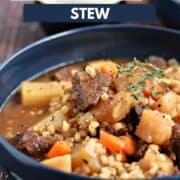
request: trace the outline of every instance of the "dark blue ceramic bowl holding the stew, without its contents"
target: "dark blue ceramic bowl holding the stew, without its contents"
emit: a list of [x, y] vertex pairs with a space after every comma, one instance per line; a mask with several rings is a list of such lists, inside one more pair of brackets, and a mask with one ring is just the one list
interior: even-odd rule
[[[44, 71], [97, 58], [145, 58], [149, 55], [179, 58], [179, 42], [178, 31], [136, 25], [91, 26], [50, 36], [22, 49], [0, 67], [0, 106], [22, 80]], [[2, 137], [0, 164], [24, 180], [90, 179], [45, 167], [16, 150]], [[180, 179], [180, 176], [164, 179]]]

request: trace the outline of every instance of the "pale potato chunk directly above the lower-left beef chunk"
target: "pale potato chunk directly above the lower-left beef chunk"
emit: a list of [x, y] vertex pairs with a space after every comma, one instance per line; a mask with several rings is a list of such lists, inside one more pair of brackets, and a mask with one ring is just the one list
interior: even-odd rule
[[53, 134], [55, 131], [61, 130], [63, 121], [66, 121], [65, 116], [61, 111], [56, 111], [36, 123], [33, 126], [33, 130], [38, 131], [39, 133], [48, 131], [50, 134]]

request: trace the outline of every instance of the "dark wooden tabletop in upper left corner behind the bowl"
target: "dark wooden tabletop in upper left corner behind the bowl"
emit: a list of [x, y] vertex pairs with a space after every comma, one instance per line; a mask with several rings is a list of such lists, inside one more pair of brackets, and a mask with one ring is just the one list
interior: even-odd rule
[[45, 36], [38, 23], [22, 22], [21, 2], [0, 0], [0, 63]]

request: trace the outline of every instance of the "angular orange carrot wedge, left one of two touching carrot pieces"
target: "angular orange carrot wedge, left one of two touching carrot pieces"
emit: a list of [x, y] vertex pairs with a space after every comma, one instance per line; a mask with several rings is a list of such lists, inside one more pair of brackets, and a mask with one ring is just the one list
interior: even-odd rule
[[111, 152], [122, 153], [125, 146], [122, 141], [112, 134], [109, 134], [103, 130], [100, 131], [100, 142]]

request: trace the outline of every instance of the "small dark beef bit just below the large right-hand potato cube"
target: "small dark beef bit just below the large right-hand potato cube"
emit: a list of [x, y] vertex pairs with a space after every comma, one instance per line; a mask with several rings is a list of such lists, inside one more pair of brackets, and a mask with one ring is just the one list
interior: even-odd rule
[[138, 161], [141, 158], [143, 158], [147, 148], [148, 148], [148, 143], [141, 140], [137, 141], [137, 148], [136, 148], [136, 152], [133, 155], [133, 159]]

